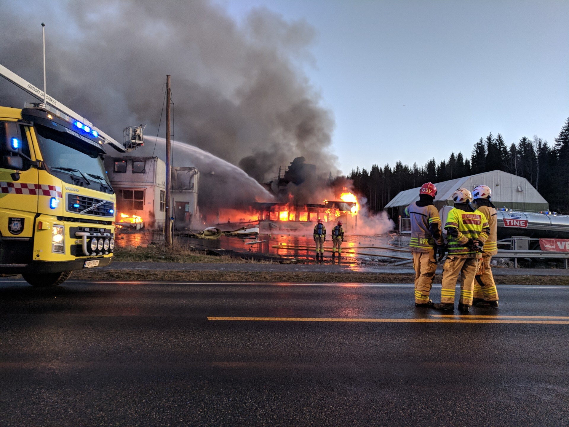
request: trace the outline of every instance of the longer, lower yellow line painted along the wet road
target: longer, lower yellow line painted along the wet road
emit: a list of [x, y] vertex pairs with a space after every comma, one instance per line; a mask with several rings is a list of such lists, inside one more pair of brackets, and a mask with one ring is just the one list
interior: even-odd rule
[[514, 319], [372, 319], [340, 317], [208, 317], [208, 321], [248, 322], [373, 322], [373, 323], [523, 323], [546, 325], [569, 325], [569, 321], [558, 320], [514, 320]]

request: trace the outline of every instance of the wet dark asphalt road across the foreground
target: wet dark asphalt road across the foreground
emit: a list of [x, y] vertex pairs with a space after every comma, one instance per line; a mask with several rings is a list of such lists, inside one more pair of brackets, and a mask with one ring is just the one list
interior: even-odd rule
[[498, 291], [0, 281], [0, 425], [568, 425], [569, 287]]

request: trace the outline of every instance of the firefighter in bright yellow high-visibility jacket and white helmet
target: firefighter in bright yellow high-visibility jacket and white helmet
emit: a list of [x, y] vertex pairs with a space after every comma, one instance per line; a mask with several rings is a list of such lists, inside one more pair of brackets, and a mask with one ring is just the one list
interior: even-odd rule
[[466, 188], [456, 190], [452, 200], [455, 207], [448, 212], [444, 225], [448, 233], [448, 256], [443, 265], [440, 304], [435, 304], [434, 308], [455, 309], [455, 288], [460, 277], [459, 310], [469, 311], [481, 252], [490, 235], [490, 227], [484, 213], [471, 206], [472, 194]]

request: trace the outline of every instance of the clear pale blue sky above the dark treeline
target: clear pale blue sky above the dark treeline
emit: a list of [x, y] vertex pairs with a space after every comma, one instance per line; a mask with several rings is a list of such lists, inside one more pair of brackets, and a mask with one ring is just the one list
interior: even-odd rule
[[307, 76], [333, 111], [344, 173], [470, 157], [489, 132], [553, 143], [569, 117], [569, 1], [217, 0], [317, 36]]

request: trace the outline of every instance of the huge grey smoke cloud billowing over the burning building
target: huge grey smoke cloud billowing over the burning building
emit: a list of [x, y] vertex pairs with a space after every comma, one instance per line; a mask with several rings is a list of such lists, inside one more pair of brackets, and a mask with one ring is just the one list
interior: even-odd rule
[[[170, 74], [179, 141], [259, 182], [300, 155], [318, 173], [339, 173], [332, 114], [302, 72], [315, 36], [303, 20], [261, 8], [237, 23], [206, 0], [28, 1], [25, 9], [4, 1], [0, 63], [40, 87], [40, 20], [47, 93], [118, 141], [127, 125], [149, 124], [147, 137], [156, 135]], [[21, 108], [33, 99], [2, 80], [0, 100]]]

